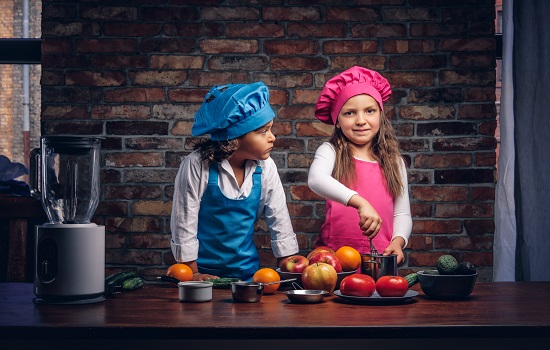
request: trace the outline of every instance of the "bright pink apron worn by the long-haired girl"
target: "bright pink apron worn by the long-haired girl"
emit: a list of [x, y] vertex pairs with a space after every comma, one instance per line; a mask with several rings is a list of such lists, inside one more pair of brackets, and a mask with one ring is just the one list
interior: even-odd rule
[[[386, 189], [384, 176], [378, 163], [359, 159], [354, 159], [354, 162], [357, 183], [352, 189], [365, 198], [382, 218], [380, 232], [373, 239], [376, 249], [382, 252], [390, 244], [393, 235], [393, 197]], [[369, 253], [369, 240], [363, 236], [359, 228], [357, 209], [327, 199], [325, 223], [321, 226], [321, 232], [315, 243], [315, 246], [321, 245], [334, 250], [348, 245], [361, 254]]]

